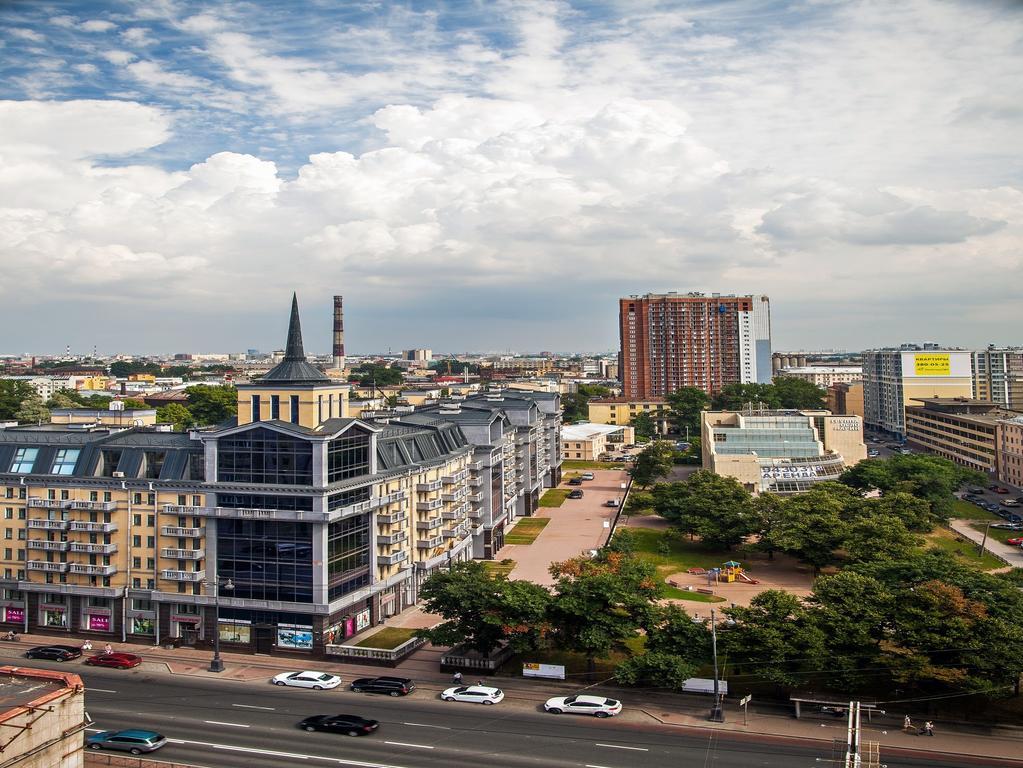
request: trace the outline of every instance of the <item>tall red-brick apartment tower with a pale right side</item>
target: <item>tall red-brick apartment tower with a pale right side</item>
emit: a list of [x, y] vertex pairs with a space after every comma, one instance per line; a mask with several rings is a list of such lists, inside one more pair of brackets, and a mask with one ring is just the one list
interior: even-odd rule
[[632, 296], [619, 300], [619, 330], [626, 400], [663, 398], [682, 387], [713, 394], [728, 383], [771, 380], [765, 296]]

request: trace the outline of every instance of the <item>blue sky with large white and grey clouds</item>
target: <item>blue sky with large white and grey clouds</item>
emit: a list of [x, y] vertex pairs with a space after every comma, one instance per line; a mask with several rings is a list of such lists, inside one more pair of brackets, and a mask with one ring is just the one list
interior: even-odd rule
[[0, 2], [0, 353], [1023, 345], [1023, 3]]

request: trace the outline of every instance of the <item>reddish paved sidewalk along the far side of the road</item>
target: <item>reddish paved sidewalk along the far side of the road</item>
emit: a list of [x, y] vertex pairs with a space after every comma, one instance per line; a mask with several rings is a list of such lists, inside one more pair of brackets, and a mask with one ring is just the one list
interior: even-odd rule
[[[79, 640], [72, 637], [23, 635], [17, 642], [0, 644], [0, 649], [7, 648], [9, 654], [20, 654], [33, 645], [54, 642], [77, 643]], [[451, 684], [450, 676], [439, 672], [440, 657], [444, 648], [436, 648], [432, 645], [427, 645], [416, 651], [394, 670], [385, 667], [337, 664], [301, 658], [222, 652], [221, 657], [224, 660], [226, 670], [219, 674], [210, 672], [208, 669], [212, 656], [209, 650], [167, 649], [162, 646], [131, 645], [128, 643], [115, 643], [115, 649], [138, 653], [147, 664], [161, 665], [171, 674], [219, 678], [235, 682], [266, 681], [278, 672], [313, 667], [324, 672], [339, 674], [345, 680], [382, 674], [407, 676], [413, 678], [417, 687], [424, 691], [440, 691]], [[598, 685], [583, 686], [572, 681], [562, 682], [517, 677], [490, 677], [487, 678], [487, 682], [499, 685], [505, 691], [508, 703], [520, 706], [535, 705], [548, 696], [565, 695], [567, 692], [577, 692], [580, 688], [586, 687], [593, 693], [622, 697], [628, 710], [633, 713], [642, 713], [650, 719], [650, 722], [671, 727], [698, 729], [704, 732], [717, 731], [722, 735], [727, 733], [749, 734], [764, 741], [798, 739], [815, 744], [820, 750], [821, 757], [827, 757], [830, 754], [834, 739], [843, 741], [845, 739], [845, 720], [842, 718], [814, 719], [811, 715], [796, 720], [782, 711], [781, 708], [770, 711], [751, 709], [749, 725], [743, 725], [742, 710], [733, 701], [725, 701], [726, 722], [711, 723], [707, 720], [711, 704], [710, 697], [698, 694], [602, 688]], [[1023, 755], [1023, 729], [1011, 726], [953, 724], [936, 720], [936, 735], [928, 737], [903, 733], [900, 730], [901, 719], [902, 713], [892, 712], [880, 719], [875, 718], [873, 723], [864, 723], [863, 738], [866, 741], [878, 741], [881, 744], [882, 759], [884, 759], [886, 749], [899, 749], [918, 753], [925, 759], [927, 754], [946, 753], [988, 758], [995, 765], [1019, 763], [1023, 766], [1023, 758], [1021, 758]], [[921, 725], [922, 721], [916, 724]]]

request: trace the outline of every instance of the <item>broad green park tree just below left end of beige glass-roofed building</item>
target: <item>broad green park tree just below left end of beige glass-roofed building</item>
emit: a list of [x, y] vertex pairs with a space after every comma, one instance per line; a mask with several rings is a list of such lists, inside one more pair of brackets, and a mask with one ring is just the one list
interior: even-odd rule
[[730, 549], [757, 530], [753, 498], [735, 478], [701, 469], [653, 495], [658, 514], [713, 549]]

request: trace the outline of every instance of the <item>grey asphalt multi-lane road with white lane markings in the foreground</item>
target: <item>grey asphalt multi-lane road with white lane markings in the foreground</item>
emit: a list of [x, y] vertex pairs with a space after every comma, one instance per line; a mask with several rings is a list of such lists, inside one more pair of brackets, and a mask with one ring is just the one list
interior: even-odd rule
[[[266, 682], [175, 676], [154, 669], [155, 665], [131, 671], [52, 662], [32, 665], [74, 669], [82, 675], [94, 730], [159, 730], [170, 739], [159, 754], [161, 759], [210, 768], [796, 768], [828, 765], [820, 761], [838, 757], [826, 743], [702, 733], [640, 717], [595, 720], [547, 715], [539, 702], [515, 696], [483, 707], [441, 702], [436, 692], [427, 690], [391, 698], [340, 688], [280, 688]], [[309, 715], [337, 713], [376, 719], [380, 729], [353, 738], [296, 727]], [[938, 756], [885, 756], [884, 762], [890, 768], [979, 764]]]

